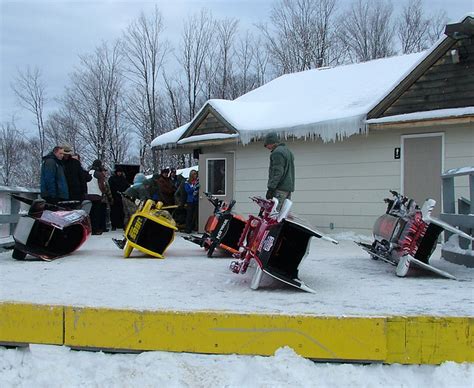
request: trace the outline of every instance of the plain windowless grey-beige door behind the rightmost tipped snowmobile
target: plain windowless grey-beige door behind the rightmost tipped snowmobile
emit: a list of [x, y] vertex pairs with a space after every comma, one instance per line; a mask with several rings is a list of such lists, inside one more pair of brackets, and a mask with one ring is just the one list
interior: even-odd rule
[[441, 173], [443, 169], [443, 134], [402, 137], [402, 192], [422, 206], [427, 198], [436, 201], [433, 215], [441, 211]]

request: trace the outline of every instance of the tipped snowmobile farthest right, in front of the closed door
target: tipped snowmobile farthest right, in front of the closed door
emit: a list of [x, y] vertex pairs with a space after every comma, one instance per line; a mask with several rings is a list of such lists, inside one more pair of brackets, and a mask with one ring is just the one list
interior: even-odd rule
[[430, 271], [456, 279], [450, 273], [433, 267], [429, 259], [443, 230], [473, 241], [473, 237], [431, 216], [436, 201], [427, 199], [420, 209], [413, 199], [390, 190], [387, 210], [374, 224], [374, 242], [356, 242], [373, 259], [396, 266], [397, 276], [404, 277], [415, 269]]

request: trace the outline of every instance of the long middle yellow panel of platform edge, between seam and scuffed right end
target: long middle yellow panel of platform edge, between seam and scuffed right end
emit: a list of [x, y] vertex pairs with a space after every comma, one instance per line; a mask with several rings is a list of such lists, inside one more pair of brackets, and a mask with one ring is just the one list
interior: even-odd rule
[[67, 307], [65, 343], [100, 349], [272, 355], [383, 361], [384, 318], [222, 312], [151, 312]]

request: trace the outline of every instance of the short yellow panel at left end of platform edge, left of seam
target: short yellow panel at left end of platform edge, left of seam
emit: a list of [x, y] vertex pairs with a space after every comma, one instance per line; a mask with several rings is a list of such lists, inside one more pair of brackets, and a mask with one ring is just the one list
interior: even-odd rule
[[0, 343], [64, 343], [63, 307], [0, 303]]

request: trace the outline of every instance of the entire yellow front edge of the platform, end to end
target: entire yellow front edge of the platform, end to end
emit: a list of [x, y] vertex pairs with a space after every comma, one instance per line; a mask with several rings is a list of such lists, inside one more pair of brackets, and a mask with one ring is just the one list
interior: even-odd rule
[[272, 355], [282, 346], [318, 360], [474, 362], [473, 318], [319, 317], [134, 311], [0, 303], [0, 343]]

